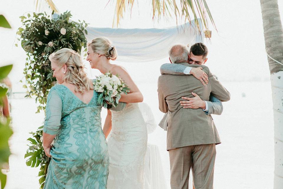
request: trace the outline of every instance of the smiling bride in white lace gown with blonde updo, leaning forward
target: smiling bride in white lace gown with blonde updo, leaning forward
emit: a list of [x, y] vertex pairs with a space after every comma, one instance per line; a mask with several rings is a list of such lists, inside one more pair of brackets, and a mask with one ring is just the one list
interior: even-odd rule
[[[143, 189], [144, 157], [147, 151], [147, 128], [138, 102], [143, 96], [128, 72], [121, 66], [110, 63], [117, 58], [116, 48], [108, 38], [94, 38], [88, 43], [88, 57], [91, 68], [105, 74], [118, 74], [130, 88], [122, 95], [120, 102], [126, 102], [123, 111], [108, 110], [103, 132], [107, 138], [109, 153], [109, 175], [107, 189]], [[112, 119], [111, 119], [112, 118]]]

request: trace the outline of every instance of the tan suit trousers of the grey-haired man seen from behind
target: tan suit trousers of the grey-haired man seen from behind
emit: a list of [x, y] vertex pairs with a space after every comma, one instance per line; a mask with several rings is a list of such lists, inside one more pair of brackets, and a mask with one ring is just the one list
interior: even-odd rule
[[215, 144], [169, 150], [171, 189], [188, 189], [190, 168], [195, 189], [213, 189], [215, 156]]

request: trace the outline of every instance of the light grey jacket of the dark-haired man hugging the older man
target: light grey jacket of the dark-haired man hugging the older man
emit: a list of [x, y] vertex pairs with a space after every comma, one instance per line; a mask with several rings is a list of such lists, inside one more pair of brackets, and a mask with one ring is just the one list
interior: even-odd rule
[[[160, 67], [160, 73], [161, 74], [171, 74], [171, 75], [185, 75], [184, 70], [187, 68], [187, 66], [184, 66], [182, 64], [174, 64], [174, 63], [165, 63], [162, 64]], [[214, 75], [215, 76], [215, 75]], [[215, 76], [217, 79], [217, 77]], [[223, 105], [220, 100], [210, 95], [209, 101], [207, 102], [207, 108], [208, 112], [205, 112], [207, 115], [215, 114], [215, 115], [221, 115], [223, 112]], [[167, 114], [165, 113], [162, 120], [159, 122], [159, 126], [163, 128], [165, 131], [167, 131]]]

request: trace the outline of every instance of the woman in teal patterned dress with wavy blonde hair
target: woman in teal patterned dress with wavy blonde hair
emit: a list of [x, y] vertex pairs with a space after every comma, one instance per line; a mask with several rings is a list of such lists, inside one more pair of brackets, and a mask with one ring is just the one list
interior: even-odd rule
[[43, 148], [51, 162], [44, 188], [106, 189], [108, 149], [93, 81], [74, 50], [63, 48], [50, 61], [59, 84], [47, 97]]

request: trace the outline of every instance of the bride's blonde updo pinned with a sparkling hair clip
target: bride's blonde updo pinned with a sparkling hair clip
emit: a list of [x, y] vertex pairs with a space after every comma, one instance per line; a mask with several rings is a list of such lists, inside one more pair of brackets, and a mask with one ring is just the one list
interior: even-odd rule
[[105, 55], [106, 58], [116, 60], [118, 53], [115, 46], [112, 46], [111, 41], [106, 37], [98, 37], [87, 43], [91, 46], [93, 52]]

